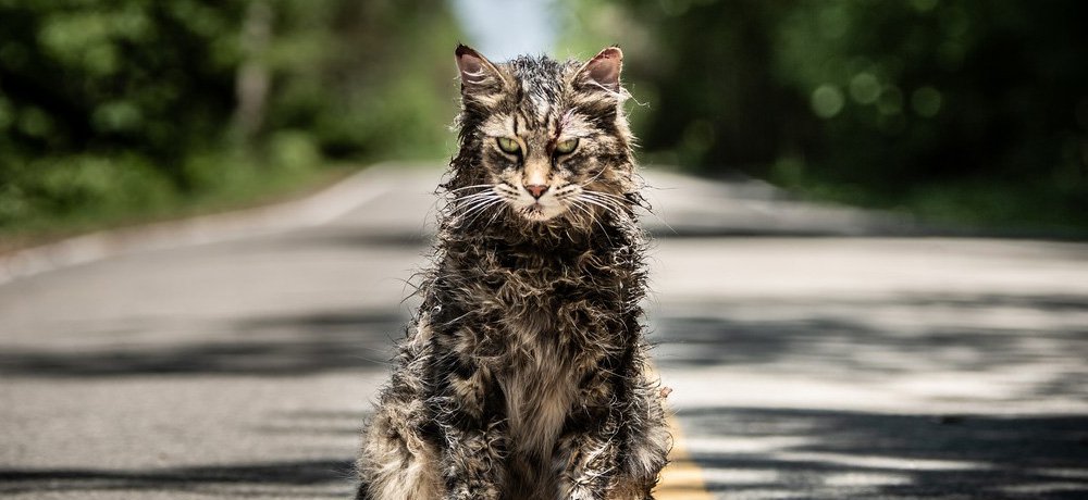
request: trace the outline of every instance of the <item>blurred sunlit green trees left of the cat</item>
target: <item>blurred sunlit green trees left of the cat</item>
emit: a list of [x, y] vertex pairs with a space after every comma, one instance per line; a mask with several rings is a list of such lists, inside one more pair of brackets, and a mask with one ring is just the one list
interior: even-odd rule
[[437, 158], [458, 33], [441, 0], [0, 0], [0, 235]]

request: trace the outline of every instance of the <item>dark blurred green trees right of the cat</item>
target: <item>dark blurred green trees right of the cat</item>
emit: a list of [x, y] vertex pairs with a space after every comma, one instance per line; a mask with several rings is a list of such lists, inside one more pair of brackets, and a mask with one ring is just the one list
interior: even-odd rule
[[566, 2], [650, 162], [929, 221], [1088, 234], [1088, 3]]

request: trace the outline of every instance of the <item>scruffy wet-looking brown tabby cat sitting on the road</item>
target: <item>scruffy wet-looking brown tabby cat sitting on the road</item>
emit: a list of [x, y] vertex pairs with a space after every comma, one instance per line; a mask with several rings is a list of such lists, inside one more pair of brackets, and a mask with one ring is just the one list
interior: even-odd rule
[[671, 436], [642, 324], [623, 54], [455, 55], [460, 150], [356, 498], [653, 499]]

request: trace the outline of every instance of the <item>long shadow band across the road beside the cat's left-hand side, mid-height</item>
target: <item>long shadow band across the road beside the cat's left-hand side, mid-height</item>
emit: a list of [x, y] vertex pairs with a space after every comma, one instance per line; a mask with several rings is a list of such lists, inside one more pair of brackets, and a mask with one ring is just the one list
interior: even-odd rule
[[408, 318], [396, 311], [324, 312], [205, 325], [215, 340], [0, 352], [0, 374], [36, 377], [237, 374], [294, 376], [384, 370]]

